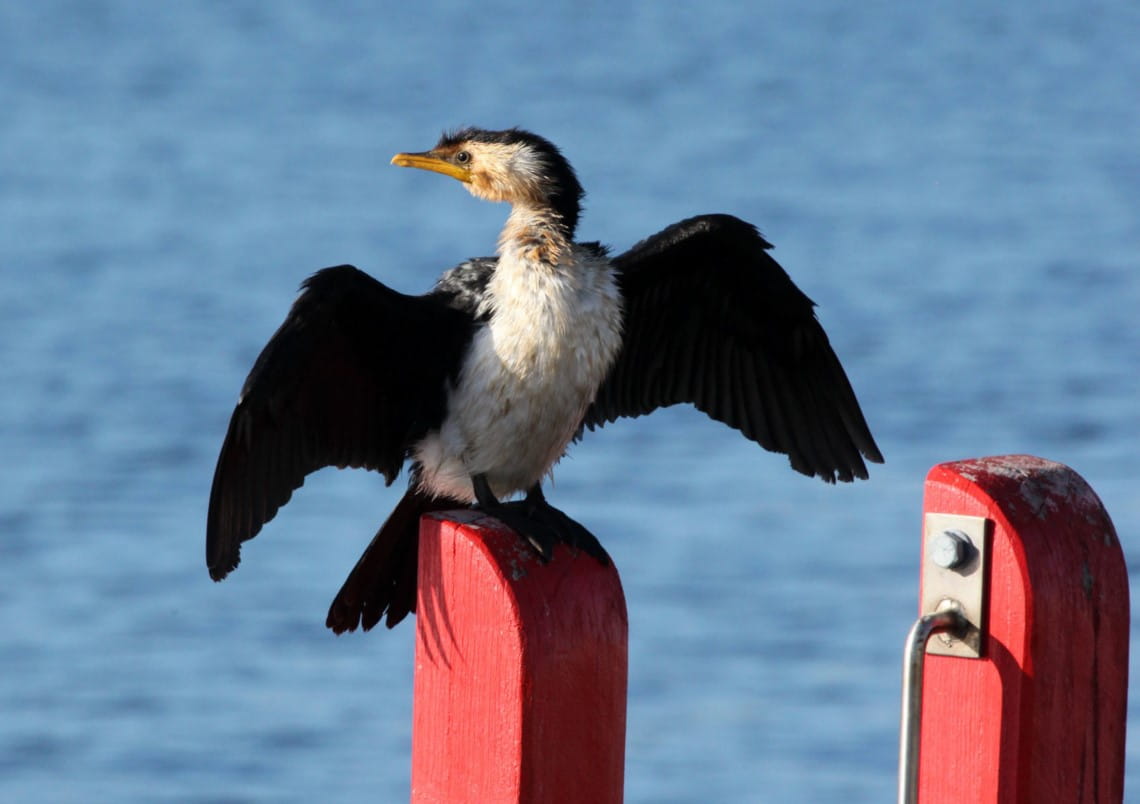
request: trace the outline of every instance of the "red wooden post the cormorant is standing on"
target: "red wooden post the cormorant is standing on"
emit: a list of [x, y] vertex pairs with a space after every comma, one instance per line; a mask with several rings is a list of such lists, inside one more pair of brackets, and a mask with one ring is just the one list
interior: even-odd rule
[[471, 512], [420, 525], [412, 801], [620, 802], [626, 636], [617, 570], [542, 563]]

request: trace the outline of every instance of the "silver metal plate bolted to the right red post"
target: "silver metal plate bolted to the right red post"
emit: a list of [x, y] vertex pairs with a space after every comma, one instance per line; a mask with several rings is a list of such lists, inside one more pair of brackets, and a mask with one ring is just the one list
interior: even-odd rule
[[[969, 620], [963, 639], [940, 632], [927, 642], [927, 653], [977, 659], [986, 611], [986, 561], [992, 527], [985, 517], [928, 513], [922, 539], [923, 615], [956, 608]], [[947, 551], [959, 546], [956, 560]], [[945, 566], [952, 565], [952, 566]]]

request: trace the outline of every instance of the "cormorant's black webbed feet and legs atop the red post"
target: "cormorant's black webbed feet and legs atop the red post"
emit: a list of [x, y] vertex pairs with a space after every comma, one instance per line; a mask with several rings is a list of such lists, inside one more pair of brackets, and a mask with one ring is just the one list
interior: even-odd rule
[[594, 534], [547, 503], [537, 484], [524, 500], [502, 503], [491, 493], [487, 478], [477, 474], [473, 480], [479, 502], [472, 507], [495, 517], [522, 536], [543, 561], [553, 558], [554, 545], [561, 542], [592, 555], [601, 565], [609, 566], [610, 555]]

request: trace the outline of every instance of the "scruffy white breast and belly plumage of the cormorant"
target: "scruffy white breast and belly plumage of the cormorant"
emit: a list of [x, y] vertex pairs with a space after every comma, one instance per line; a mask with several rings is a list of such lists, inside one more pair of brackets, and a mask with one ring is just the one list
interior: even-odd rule
[[[565, 452], [621, 342], [620, 299], [604, 260], [575, 247], [556, 266], [504, 250], [438, 435], [416, 449], [421, 485], [473, 500], [484, 473], [506, 496], [543, 479]], [[577, 265], [573, 265], [577, 263]]]

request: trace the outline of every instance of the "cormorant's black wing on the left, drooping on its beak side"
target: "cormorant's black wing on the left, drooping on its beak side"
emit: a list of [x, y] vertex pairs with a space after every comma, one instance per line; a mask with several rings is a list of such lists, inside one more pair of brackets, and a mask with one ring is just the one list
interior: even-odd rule
[[442, 421], [473, 326], [445, 300], [397, 293], [352, 266], [309, 278], [229, 421], [210, 492], [210, 576], [237, 567], [242, 542], [309, 472], [374, 469], [391, 484]]

